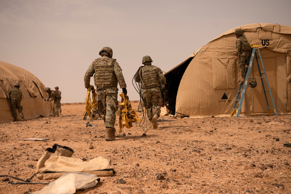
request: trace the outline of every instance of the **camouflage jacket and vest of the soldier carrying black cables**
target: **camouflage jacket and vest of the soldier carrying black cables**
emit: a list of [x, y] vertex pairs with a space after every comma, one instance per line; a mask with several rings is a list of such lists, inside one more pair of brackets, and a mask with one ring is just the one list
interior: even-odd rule
[[139, 68], [139, 71], [134, 75], [134, 81], [142, 82], [142, 88], [154, 88], [162, 84], [166, 84], [166, 78], [162, 70], [151, 63], [145, 63], [144, 67]]

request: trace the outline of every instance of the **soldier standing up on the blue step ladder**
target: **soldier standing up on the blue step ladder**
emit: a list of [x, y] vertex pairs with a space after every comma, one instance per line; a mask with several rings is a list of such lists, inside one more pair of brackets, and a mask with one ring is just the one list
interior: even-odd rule
[[235, 60], [238, 59], [238, 65], [240, 69], [241, 78], [240, 81], [245, 81], [246, 73], [248, 72], [249, 66], [246, 64], [247, 59], [249, 57], [249, 51], [251, 50], [251, 45], [249, 44], [248, 40], [244, 36], [242, 29], [235, 30], [235, 37], [237, 38], [236, 41], [236, 49], [235, 52]]

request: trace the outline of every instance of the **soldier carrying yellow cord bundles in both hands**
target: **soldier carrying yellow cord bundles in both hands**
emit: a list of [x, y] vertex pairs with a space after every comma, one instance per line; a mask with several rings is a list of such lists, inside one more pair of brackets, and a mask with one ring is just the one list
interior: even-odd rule
[[101, 58], [95, 59], [89, 66], [84, 76], [84, 85], [85, 88], [89, 88], [90, 78], [95, 74], [94, 83], [97, 90], [98, 106], [104, 107], [102, 109], [104, 109], [105, 115], [105, 140], [112, 141], [115, 140], [115, 112], [118, 110], [117, 85], [119, 83], [123, 93], [127, 95], [126, 83], [120, 66], [116, 59], [112, 58], [112, 49], [103, 47], [99, 55]]

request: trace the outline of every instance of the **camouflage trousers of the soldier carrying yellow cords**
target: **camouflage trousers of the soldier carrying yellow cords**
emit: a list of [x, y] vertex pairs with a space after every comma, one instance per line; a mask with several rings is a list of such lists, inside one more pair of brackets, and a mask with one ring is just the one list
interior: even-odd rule
[[117, 90], [100, 88], [97, 90], [97, 97], [98, 106], [101, 106], [105, 115], [105, 127], [114, 127], [115, 112], [118, 110]]

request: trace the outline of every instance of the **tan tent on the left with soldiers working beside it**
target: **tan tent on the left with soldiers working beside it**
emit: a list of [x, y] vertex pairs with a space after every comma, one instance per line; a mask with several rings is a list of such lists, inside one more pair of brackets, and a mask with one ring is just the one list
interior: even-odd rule
[[[0, 61], [0, 123], [14, 121], [6, 95], [15, 83], [19, 83], [22, 92], [21, 105], [25, 119], [48, 116], [52, 112], [51, 103], [43, 102], [43, 98], [47, 97], [45, 86], [36, 76], [20, 67]], [[17, 118], [20, 118], [18, 111]]]

